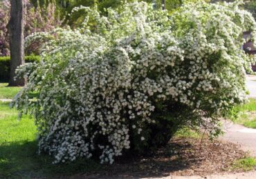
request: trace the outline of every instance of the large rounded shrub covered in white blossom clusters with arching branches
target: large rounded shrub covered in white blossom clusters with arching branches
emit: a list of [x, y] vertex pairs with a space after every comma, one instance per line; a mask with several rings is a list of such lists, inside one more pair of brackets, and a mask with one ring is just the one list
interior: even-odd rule
[[256, 23], [239, 3], [188, 3], [171, 17], [138, 2], [108, 17], [76, 8], [87, 14], [82, 28], [27, 39], [49, 40], [38, 65], [19, 68], [28, 85], [12, 105], [35, 116], [39, 151], [55, 162], [112, 163], [165, 145], [183, 126], [217, 134], [218, 117], [246, 100], [255, 61], [240, 49], [242, 32], [255, 33]]

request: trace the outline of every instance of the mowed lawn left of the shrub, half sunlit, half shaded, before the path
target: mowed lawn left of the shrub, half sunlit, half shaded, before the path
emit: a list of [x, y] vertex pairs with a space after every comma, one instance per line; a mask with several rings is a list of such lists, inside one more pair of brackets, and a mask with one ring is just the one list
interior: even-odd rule
[[60, 178], [102, 167], [93, 160], [53, 165], [53, 158], [37, 154], [37, 130], [33, 118], [17, 120], [17, 110], [0, 102], [0, 178]]

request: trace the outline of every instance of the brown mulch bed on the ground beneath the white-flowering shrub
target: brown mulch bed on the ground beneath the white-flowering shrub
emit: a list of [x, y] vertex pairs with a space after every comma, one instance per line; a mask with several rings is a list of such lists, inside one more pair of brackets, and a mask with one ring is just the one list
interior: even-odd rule
[[138, 178], [206, 176], [230, 171], [234, 160], [246, 156], [239, 146], [208, 138], [174, 138], [167, 147], [147, 156], [126, 156], [102, 171], [73, 178]]

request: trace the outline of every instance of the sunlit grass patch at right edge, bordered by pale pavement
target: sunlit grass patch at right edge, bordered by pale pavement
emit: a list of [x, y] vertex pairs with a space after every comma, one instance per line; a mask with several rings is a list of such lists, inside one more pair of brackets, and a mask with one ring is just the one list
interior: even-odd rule
[[256, 99], [250, 98], [248, 103], [236, 106], [234, 112], [238, 112], [237, 118], [232, 119], [235, 123], [256, 129]]

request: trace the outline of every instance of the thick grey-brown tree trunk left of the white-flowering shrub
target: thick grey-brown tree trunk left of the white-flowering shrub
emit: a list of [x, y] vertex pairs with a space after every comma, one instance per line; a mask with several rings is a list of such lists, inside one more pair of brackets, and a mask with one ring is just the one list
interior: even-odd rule
[[9, 86], [24, 86], [25, 78], [17, 78], [15, 81], [15, 70], [24, 60], [24, 1], [10, 0], [10, 21], [8, 29], [10, 33], [10, 81]]

